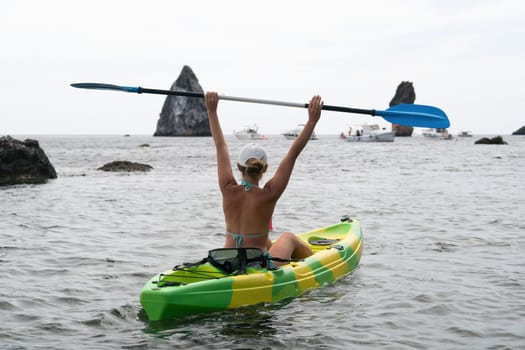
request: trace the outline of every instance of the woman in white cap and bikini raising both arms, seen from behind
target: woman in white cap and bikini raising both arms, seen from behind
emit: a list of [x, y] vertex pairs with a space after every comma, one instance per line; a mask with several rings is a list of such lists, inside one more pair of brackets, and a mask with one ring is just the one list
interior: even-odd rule
[[[259, 182], [268, 169], [268, 164], [262, 147], [249, 144], [242, 149], [237, 162], [242, 181], [241, 184], [238, 184], [233, 176], [228, 145], [217, 115], [219, 96], [215, 92], [207, 92], [205, 102], [217, 152], [219, 187], [223, 197], [226, 221], [224, 247], [260, 248], [268, 251], [271, 256], [281, 259], [303, 259], [312, 255], [310, 248], [291, 232], [283, 233], [272, 244], [268, 237], [268, 230], [275, 205], [288, 185], [295, 161], [306, 146], [321, 117], [323, 107], [321, 97], [314, 96], [310, 100], [308, 122], [290, 146], [274, 176], [266, 182], [263, 188], [259, 187]], [[276, 265], [279, 263], [276, 262]]]

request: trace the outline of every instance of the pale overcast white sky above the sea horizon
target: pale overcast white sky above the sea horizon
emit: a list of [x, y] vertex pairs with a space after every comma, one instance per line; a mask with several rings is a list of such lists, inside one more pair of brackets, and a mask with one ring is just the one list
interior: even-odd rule
[[[452, 133], [525, 125], [521, 0], [2, 1], [0, 43], [0, 136], [152, 135], [165, 96], [69, 84], [169, 89], [184, 65], [205, 91], [378, 110], [411, 81]], [[226, 134], [256, 124], [272, 135], [307, 112], [221, 101], [219, 118]], [[316, 133], [364, 123], [390, 128], [324, 111]]]

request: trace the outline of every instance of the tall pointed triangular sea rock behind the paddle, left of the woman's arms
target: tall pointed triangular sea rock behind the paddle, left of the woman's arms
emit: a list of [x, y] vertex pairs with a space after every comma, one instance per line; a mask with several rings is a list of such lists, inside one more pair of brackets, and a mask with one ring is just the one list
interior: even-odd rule
[[[171, 90], [203, 92], [188, 66], [182, 68]], [[204, 99], [167, 96], [153, 136], [211, 136]]]

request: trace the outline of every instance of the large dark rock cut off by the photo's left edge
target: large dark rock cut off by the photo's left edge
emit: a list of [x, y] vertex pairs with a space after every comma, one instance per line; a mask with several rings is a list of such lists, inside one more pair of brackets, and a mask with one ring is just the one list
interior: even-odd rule
[[56, 178], [55, 168], [37, 140], [0, 137], [0, 186], [40, 184]]

